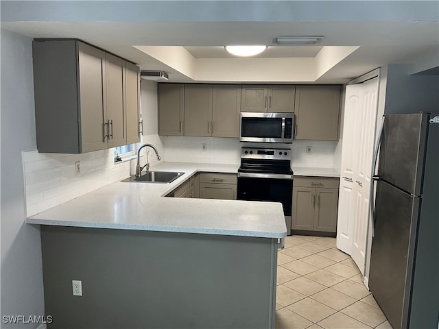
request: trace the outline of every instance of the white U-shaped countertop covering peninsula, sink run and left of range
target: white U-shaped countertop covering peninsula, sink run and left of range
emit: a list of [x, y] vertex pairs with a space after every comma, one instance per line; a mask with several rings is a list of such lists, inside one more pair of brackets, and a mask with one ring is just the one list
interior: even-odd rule
[[162, 162], [154, 171], [183, 171], [169, 184], [115, 182], [27, 218], [27, 223], [283, 238], [281, 203], [164, 197], [197, 171], [236, 173], [239, 165]]

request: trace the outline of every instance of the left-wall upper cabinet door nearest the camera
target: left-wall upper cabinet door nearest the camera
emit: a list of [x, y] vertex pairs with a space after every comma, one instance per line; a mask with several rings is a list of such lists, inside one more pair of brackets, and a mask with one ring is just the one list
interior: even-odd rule
[[107, 147], [104, 51], [79, 42], [81, 153]]

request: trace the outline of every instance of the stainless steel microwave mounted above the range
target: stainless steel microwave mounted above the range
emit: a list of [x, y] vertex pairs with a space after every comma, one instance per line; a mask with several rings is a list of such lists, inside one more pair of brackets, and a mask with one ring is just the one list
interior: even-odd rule
[[294, 113], [241, 112], [239, 141], [293, 143]]

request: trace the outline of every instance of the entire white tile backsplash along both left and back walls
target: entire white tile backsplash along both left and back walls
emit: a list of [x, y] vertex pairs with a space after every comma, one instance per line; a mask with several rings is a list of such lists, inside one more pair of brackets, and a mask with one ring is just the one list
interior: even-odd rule
[[[167, 162], [202, 162], [239, 164], [241, 147], [237, 138], [206, 138], [143, 136], [143, 143], [152, 143]], [[202, 150], [206, 144], [206, 150]], [[292, 164], [296, 167], [340, 167], [338, 142], [294, 141], [291, 147]], [[271, 146], [271, 145], [270, 145]], [[307, 147], [311, 153], [307, 154]], [[146, 151], [146, 149], [145, 149]], [[134, 172], [135, 160], [114, 163], [114, 149], [86, 154], [41, 154], [37, 150], [23, 151], [27, 216], [35, 215], [75, 197], [97, 190], [126, 178]], [[144, 157], [144, 155], [143, 155]], [[80, 161], [76, 174], [75, 162]], [[145, 159], [143, 159], [145, 162]], [[143, 163], [142, 162], [142, 163]], [[156, 158], [150, 157], [152, 165]]]

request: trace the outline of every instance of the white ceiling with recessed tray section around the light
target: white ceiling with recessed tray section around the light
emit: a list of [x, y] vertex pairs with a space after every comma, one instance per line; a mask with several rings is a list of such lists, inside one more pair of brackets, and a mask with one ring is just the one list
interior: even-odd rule
[[[79, 38], [175, 82], [344, 83], [385, 64], [432, 69], [438, 16], [438, 1], [1, 1], [3, 29]], [[288, 35], [324, 39], [248, 60], [223, 49]]]

